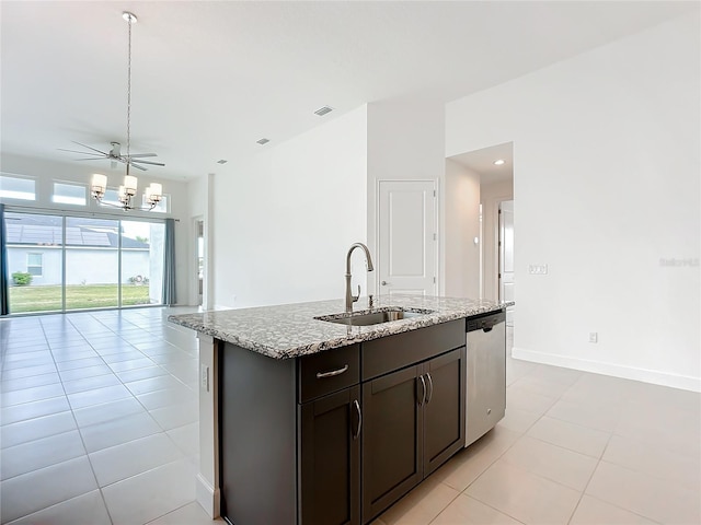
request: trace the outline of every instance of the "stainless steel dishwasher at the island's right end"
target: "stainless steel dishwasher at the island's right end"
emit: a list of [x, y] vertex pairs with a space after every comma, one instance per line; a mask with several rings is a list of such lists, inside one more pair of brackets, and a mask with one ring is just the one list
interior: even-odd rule
[[506, 313], [470, 317], [466, 331], [464, 446], [468, 446], [492, 430], [506, 413]]

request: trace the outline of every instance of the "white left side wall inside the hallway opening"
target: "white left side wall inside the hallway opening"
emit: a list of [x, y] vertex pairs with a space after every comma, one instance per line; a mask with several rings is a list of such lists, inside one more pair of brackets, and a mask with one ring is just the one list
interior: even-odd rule
[[444, 202], [444, 295], [480, 296], [480, 174], [446, 159]]

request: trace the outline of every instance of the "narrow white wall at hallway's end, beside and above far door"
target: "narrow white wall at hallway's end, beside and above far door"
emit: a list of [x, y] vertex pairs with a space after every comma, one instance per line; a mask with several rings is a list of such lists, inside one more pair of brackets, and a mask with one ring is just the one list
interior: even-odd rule
[[[480, 201], [482, 202], [482, 267], [483, 267], [483, 298], [498, 301], [498, 241], [499, 241], [499, 202], [514, 198], [514, 180], [483, 183], [480, 186]], [[518, 218], [514, 218], [516, 223]], [[518, 226], [515, 225], [517, 231]]]

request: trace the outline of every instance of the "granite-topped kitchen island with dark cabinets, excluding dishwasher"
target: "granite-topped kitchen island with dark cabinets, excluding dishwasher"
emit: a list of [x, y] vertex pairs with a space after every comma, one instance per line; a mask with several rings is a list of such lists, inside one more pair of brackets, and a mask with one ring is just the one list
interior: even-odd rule
[[369, 523], [464, 446], [466, 319], [506, 306], [393, 295], [350, 317], [341, 300], [171, 316], [200, 340], [198, 501], [237, 525]]

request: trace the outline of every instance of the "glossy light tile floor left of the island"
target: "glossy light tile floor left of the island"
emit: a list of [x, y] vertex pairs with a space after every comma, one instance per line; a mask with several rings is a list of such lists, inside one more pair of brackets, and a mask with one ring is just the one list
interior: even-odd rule
[[[198, 525], [193, 308], [0, 320], [3, 525]], [[222, 523], [219, 521], [219, 523]]]

